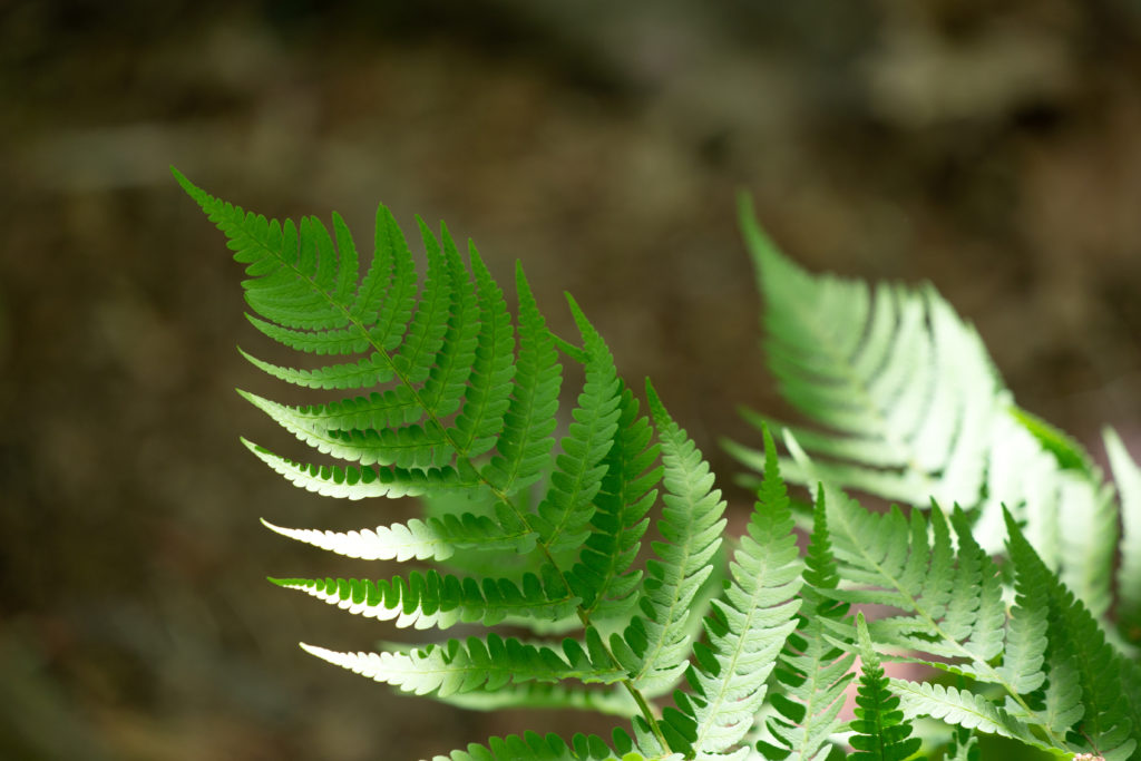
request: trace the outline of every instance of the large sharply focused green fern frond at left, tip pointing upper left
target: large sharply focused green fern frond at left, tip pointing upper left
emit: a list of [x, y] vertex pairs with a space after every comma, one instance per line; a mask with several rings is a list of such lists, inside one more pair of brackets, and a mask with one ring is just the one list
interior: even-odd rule
[[[799, 605], [786, 507], [758, 517], [747, 549], [737, 554], [734, 583], [707, 623], [715, 655], [693, 672], [695, 697], [659, 714], [649, 701], [674, 689], [691, 667], [706, 601], [720, 589], [726, 505], [709, 464], [653, 387], [647, 383], [652, 422], [573, 299], [578, 346], [547, 329], [517, 268], [512, 321], [478, 252], [471, 246], [464, 262], [446, 228], [437, 237], [421, 222], [421, 275], [383, 207], [365, 258], [339, 217], [332, 233], [315, 218], [267, 220], [176, 177], [245, 265], [253, 325], [332, 363], [292, 367], [246, 356], [294, 386], [348, 392], [305, 405], [242, 392], [329, 464], [248, 446], [322, 495], [421, 495], [434, 504], [422, 518], [353, 532], [266, 524], [343, 556], [422, 560], [434, 564], [428, 569], [272, 581], [397, 626], [533, 631], [524, 640], [488, 629], [380, 653], [302, 647], [400, 690], [466, 707], [537, 703], [634, 719], [629, 730], [616, 731], [614, 750], [598, 740], [566, 745], [524, 736], [474, 746], [455, 759], [670, 758], [679, 750], [709, 754], [739, 746]], [[557, 439], [560, 351], [583, 365], [585, 380]], [[662, 540], [644, 573], [634, 561], [659, 489]], [[770, 557], [769, 549], [779, 551]], [[758, 578], [762, 573], [768, 575]], [[598, 686], [621, 691], [615, 697]]]

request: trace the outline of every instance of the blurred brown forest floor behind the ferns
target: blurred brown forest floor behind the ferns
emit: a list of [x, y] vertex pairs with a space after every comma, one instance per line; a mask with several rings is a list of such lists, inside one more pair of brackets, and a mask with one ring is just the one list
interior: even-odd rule
[[[1027, 408], [1141, 452], [1141, 5], [0, 0], [0, 759], [420, 758], [526, 728], [302, 654], [398, 637], [265, 583], [359, 528], [251, 458], [240, 270], [171, 180], [378, 201], [574, 293], [731, 491], [782, 410], [735, 195], [814, 270], [931, 280]], [[373, 568], [357, 567], [359, 575]]]

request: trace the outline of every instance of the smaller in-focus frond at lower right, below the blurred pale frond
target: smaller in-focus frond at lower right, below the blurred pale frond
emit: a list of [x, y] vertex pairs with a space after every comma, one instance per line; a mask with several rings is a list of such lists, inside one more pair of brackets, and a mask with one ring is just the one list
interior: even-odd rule
[[[788, 445], [811, 470], [795, 440]], [[954, 510], [948, 526], [938, 505], [929, 517], [898, 508], [876, 513], [839, 489], [826, 493], [839, 575], [855, 584], [827, 594], [890, 606], [892, 615], [867, 624], [869, 642], [965, 680], [949, 687], [892, 679], [908, 719], [933, 717], [1047, 751], [1133, 758], [1141, 747], [1138, 695], [1120, 674], [1135, 664], [1107, 642], [1009, 512], [1017, 599], [1008, 615], [1000, 568], [963, 511]]]

